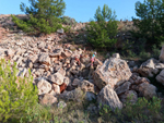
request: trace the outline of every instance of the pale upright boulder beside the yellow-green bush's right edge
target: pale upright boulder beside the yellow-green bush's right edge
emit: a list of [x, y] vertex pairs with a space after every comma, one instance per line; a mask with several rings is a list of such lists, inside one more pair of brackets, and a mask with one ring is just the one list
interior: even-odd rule
[[48, 94], [51, 90], [51, 84], [46, 79], [42, 78], [37, 83], [37, 88], [38, 88], [38, 95]]

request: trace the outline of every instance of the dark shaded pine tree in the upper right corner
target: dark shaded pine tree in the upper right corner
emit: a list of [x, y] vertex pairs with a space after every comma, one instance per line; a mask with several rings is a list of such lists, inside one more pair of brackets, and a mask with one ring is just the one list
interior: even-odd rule
[[162, 0], [144, 0], [143, 3], [136, 2], [136, 14], [132, 19], [134, 26], [139, 28], [138, 36], [149, 40], [149, 44], [157, 44], [157, 37], [163, 34], [160, 20], [163, 14]]

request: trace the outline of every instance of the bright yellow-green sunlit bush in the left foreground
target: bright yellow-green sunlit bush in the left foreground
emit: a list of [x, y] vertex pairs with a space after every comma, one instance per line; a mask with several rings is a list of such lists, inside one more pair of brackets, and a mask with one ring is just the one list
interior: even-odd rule
[[33, 108], [38, 101], [37, 88], [33, 86], [33, 77], [21, 78], [16, 76], [14, 63], [0, 61], [0, 121], [9, 119], [16, 122], [25, 118], [26, 110]]

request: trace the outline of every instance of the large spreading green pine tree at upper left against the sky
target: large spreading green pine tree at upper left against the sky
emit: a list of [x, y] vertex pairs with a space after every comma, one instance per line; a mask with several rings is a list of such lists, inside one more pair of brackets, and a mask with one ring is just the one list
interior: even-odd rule
[[13, 22], [24, 32], [35, 32], [50, 34], [61, 28], [61, 20], [66, 3], [63, 0], [28, 0], [31, 7], [24, 3], [20, 4], [20, 9], [28, 16], [28, 21], [20, 21], [13, 17]]

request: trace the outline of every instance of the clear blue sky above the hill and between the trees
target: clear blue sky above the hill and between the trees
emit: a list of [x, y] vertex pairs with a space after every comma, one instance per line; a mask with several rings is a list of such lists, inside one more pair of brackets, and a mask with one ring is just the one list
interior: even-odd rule
[[[75, 19], [77, 22], [89, 22], [94, 19], [98, 5], [101, 9], [107, 4], [112, 11], [116, 11], [117, 20], [131, 20], [136, 16], [134, 3], [143, 0], [63, 0], [66, 2], [65, 15]], [[20, 10], [20, 3], [30, 7], [28, 0], [0, 0], [0, 14], [24, 14]]]

